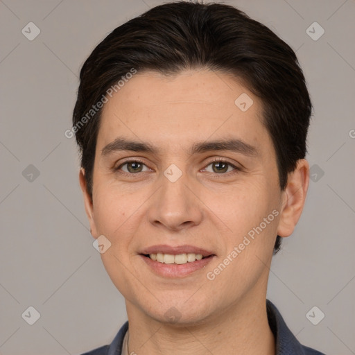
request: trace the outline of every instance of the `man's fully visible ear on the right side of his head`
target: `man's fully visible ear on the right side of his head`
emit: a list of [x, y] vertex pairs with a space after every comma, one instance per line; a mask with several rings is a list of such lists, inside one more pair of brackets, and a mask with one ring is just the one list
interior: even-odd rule
[[309, 186], [309, 164], [306, 159], [297, 162], [295, 171], [288, 174], [287, 186], [282, 191], [282, 210], [277, 227], [279, 236], [290, 236], [295, 229]]

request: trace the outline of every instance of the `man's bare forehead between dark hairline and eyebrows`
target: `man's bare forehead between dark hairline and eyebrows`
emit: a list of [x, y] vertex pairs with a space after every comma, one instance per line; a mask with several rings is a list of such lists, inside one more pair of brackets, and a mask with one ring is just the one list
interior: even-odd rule
[[156, 146], [191, 146], [194, 141], [243, 139], [268, 143], [262, 105], [238, 80], [214, 71], [164, 76], [137, 73], [103, 107], [98, 148], [117, 136]]

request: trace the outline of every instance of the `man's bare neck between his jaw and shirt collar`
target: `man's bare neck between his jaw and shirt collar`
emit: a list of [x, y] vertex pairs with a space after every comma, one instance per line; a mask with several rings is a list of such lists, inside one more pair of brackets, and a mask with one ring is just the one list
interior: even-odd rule
[[126, 300], [130, 324], [128, 354], [275, 355], [266, 298], [245, 297], [198, 324], [166, 324], [141, 313]]

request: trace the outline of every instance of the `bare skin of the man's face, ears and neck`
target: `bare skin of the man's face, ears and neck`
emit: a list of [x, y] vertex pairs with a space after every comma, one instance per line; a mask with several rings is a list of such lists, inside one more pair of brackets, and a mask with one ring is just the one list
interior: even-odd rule
[[[234, 104], [242, 93], [254, 101], [246, 112]], [[80, 186], [92, 236], [104, 235], [111, 243], [101, 258], [125, 297], [130, 353], [275, 354], [266, 313], [272, 250], [277, 234], [289, 236], [300, 218], [309, 164], [301, 159], [280, 190], [261, 108], [259, 98], [235, 78], [202, 69], [170, 78], [137, 73], [105, 104], [92, 198], [83, 169]], [[103, 155], [117, 137], [148, 142], [159, 152]], [[231, 138], [254, 146], [257, 155], [188, 153], [198, 141]], [[137, 171], [134, 164], [121, 166], [127, 158], [141, 160], [141, 171], [132, 173], [132, 167]], [[232, 166], [220, 172], [214, 158]], [[176, 182], [164, 175], [171, 164], [182, 172]], [[278, 216], [214, 280], [207, 279], [207, 272], [274, 209]], [[161, 277], [139, 256], [143, 248], [157, 244], [196, 245], [216, 257], [191, 275]], [[178, 310], [176, 322], [166, 318], [171, 307]]]

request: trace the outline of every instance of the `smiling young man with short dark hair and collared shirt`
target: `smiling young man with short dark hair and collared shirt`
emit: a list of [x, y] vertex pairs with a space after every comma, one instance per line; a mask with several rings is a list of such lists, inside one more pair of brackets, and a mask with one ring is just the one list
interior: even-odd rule
[[166, 3], [96, 46], [73, 132], [128, 322], [86, 354], [321, 354], [266, 300], [306, 198], [310, 116], [293, 50], [231, 6]]

